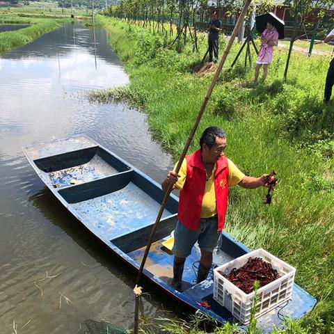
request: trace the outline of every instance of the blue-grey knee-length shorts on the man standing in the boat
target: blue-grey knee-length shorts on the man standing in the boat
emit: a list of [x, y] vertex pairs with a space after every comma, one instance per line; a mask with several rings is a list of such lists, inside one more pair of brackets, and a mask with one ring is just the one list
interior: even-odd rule
[[197, 231], [189, 230], [180, 221], [177, 221], [174, 231], [173, 254], [177, 257], [187, 257], [191, 248], [198, 241], [201, 250], [209, 253], [216, 248], [221, 231], [217, 231], [218, 217], [200, 219], [200, 228]]

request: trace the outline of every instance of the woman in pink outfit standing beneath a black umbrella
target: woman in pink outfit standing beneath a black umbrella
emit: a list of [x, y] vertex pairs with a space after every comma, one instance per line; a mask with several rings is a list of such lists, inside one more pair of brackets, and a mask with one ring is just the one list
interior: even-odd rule
[[268, 67], [273, 59], [273, 47], [277, 45], [278, 42], [278, 31], [276, 30], [273, 22], [267, 22], [267, 29], [261, 35], [261, 49], [259, 55], [257, 56], [257, 61], [255, 65], [255, 83], [260, 74], [260, 68], [263, 66], [263, 81], [267, 78]]

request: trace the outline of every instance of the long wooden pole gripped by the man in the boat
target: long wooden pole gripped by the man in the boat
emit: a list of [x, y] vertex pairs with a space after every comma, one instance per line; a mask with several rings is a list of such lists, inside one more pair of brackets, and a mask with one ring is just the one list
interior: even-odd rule
[[[175, 172], [176, 173], [179, 173], [179, 170], [180, 170], [181, 165], [182, 165], [182, 161], [183, 161], [184, 157], [186, 156], [186, 152], [189, 149], [191, 141], [193, 140], [193, 136], [194, 136], [194, 134], [196, 132], [196, 129], [198, 128], [198, 124], [200, 123], [200, 119], [202, 118], [202, 114], [205, 111], [205, 108], [207, 106], [207, 102], [209, 101], [209, 98], [210, 98], [210, 96], [212, 94], [212, 90], [214, 89], [214, 86], [216, 85], [216, 82], [218, 80], [219, 74], [221, 74], [221, 69], [223, 68], [223, 65], [224, 65], [224, 63], [226, 61], [226, 58], [228, 57], [228, 54], [230, 53], [230, 49], [232, 47], [234, 39], [237, 37], [237, 33], [238, 33], [239, 29], [240, 29], [241, 22], [244, 21], [244, 18], [246, 16], [246, 13], [247, 13], [247, 10], [248, 10], [248, 7], [250, 6], [251, 2], [252, 2], [252, 0], [246, 0], [245, 1], [244, 8], [242, 9], [242, 11], [240, 13], [240, 16], [239, 16], [239, 18], [237, 20], [237, 24], [234, 26], [232, 35], [230, 37], [230, 40], [228, 41], [228, 45], [226, 46], [226, 49], [225, 49], [225, 51], [223, 53], [223, 56], [221, 57], [221, 61], [220, 61], [219, 65], [218, 65], [218, 67], [217, 67], [216, 72], [214, 73], [214, 78], [212, 79], [212, 82], [211, 82], [211, 84], [210, 84], [210, 86], [209, 86], [209, 88], [207, 90], [207, 94], [205, 95], [204, 101], [202, 102], [202, 105], [200, 106], [200, 111], [198, 112], [196, 120], [195, 120], [195, 122], [193, 124], [193, 128], [191, 129], [191, 132], [190, 132], [190, 134], [188, 136], [188, 140], [186, 141], [186, 144], [184, 145], [184, 149], [182, 151], [180, 159], [179, 159], [179, 161], [177, 163], [177, 166], [175, 168]], [[169, 197], [170, 192], [172, 190], [173, 190], [173, 184], [169, 184], [169, 186], [167, 188], [167, 191], [165, 193], [165, 196], [164, 196], [164, 200], [162, 200], [162, 202], [161, 202], [161, 207], [160, 207], [159, 213], [157, 215], [157, 220], [155, 221], [155, 223], [153, 225], [153, 228], [152, 228], [152, 231], [151, 231], [151, 234], [150, 234], [150, 238], [148, 239], [148, 246], [146, 246], [145, 254], [143, 256], [143, 260], [141, 261], [141, 267], [139, 268], [138, 275], [137, 275], [137, 278], [136, 278], [136, 285], [138, 285], [139, 280], [141, 280], [141, 273], [143, 272], [143, 268], [145, 266], [145, 262], [146, 262], [146, 259], [148, 257], [148, 252], [150, 251], [150, 248], [151, 248], [151, 244], [152, 244], [152, 241], [153, 241], [154, 234], [157, 231], [157, 227], [158, 227], [158, 225], [160, 223], [161, 216], [164, 213], [164, 209], [166, 207], [166, 203], [167, 203], [168, 197]]]

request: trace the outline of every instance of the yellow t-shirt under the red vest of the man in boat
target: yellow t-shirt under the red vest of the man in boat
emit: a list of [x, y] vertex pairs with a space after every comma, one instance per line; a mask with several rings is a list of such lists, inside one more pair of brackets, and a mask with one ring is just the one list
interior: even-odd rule
[[[214, 169], [212, 170], [209, 180], [205, 182], [205, 191], [202, 200], [202, 210], [200, 212], [200, 218], [209, 218], [217, 213], [216, 193], [214, 191], [215, 170], [216, 170], [216, 165], [214, 165]], [[175, 183], [175, 187], [176, 189], [181, 190], [184, 186], [184, 182], [186, 182], [186, 159], [184, 159], [182, 162], [179, 175], [180, 177]], [[238, 184], [244, 177], [245, 177], [244, 173], [242, 173], [239, 170], [239, 168], [237, 168], [237, 166], [235, 166], [233, 162], [230, 159], [228, 159], [228, 186], [234, 186], [235, 184]]]

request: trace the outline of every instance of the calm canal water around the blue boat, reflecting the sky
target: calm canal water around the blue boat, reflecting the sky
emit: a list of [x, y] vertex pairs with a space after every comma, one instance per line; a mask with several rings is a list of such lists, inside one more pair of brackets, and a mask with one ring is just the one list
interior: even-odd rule
[[[87, 319], [133, 324], [134, 271], [82, 230], [21, 149], [86, 134], [162, 180], [172, 161], [152, 141], [145, 115], [81, 98], [129, 80], [106, 32], [95, 29], [95, 41], [92, 29], [70, 23], [0, 58], [1, 333], [12, 333], [13, 321], [17, 333], [49, 334], [77, 333]], [[145, 315], [169, 316], [161, 308], [174, 305], [157, 289], [146, 292]]]

